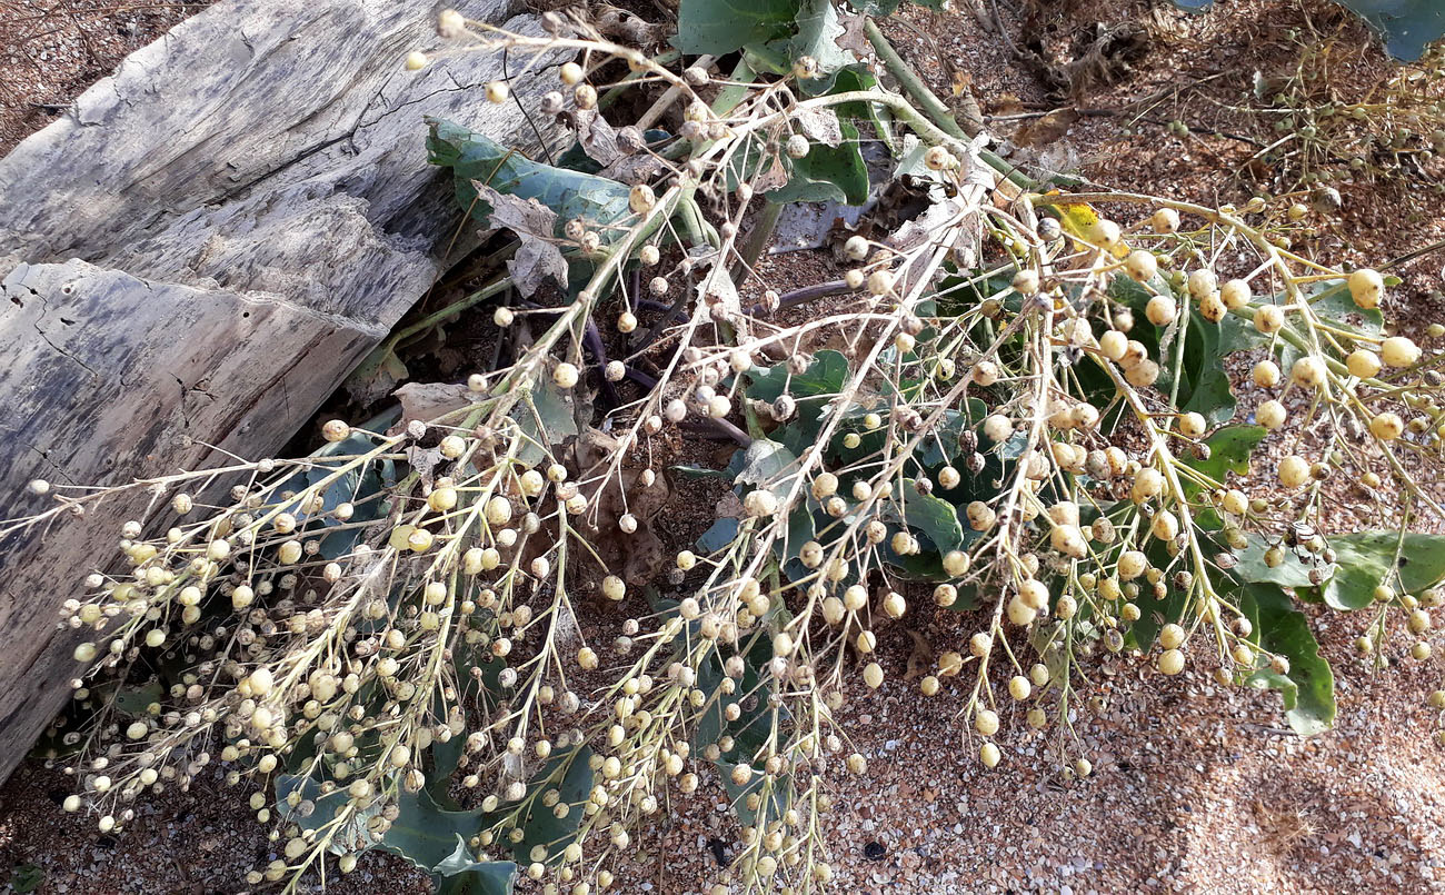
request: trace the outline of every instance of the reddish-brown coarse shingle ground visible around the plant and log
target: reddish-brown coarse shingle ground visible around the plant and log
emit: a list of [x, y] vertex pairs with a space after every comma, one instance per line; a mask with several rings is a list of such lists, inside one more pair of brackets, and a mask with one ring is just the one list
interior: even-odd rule
[[[0, 56], [0, 150], [185, 14], [175, 6], [97, 12], [101, 6], [65, 3], [42, 16], [49, 25], [43, 29], [35, 19], [45, 13], [42, 4], [23, 6], [9, 19], [10, 7], [0, 6], [0, 35], [23, 38], [9, 38], [0, 49], [7, 53]], [[949, 82], [944, 59], [968, 72], [975, 97], [994, 116], [991, 126], [1003, 133], [1038, 120], [1020, 114], [1114, 110], [1020, 137], [1042, 140], [1036, 150], [1051, 158], [1085, 162], [1085, 174], [1103, 184], [1243, 202], [1256, 189], [1287, 185], [1253, 182], [1248, 158], [1256, 147], [1204, 132], [1250, 126], [1221, 111], [1220, 103], [1246, 94], [1256, 68], [1289, 62], [1285, 29], [1324, 29], [1348, 51], [1348, 67], [1341, 67], [1354, 84], [1379, 78], [1384, 59], [1363, 27], [1331, 17], [1319, 3], [1243, 0], [1217, 7], [1185, 16], [1126, 0], [1039, 3], [1029, 10], [1000, 4], [1012, 39], [1045, 55], [1077, 45], [1095, 22], [1143, 23], [1152, 40], [1146, 55], [1116, 84], [1075, 95], [1051, 97], [1038, 71], [972, 16], [910, 10], [906, 23], [892, 23], [889, 32], [939, 93]], [[130, 22], [134, 30], [127, 30]], [[1212, 78], [1205, 87], [1189, 87], [1205, 78]], [[1147, 117], [1186, 120], [1191, 136], [1179, 139], [1136, 120], [1137, 113], [1118, 113], [1160, 91], [1165, 98], [1150, 100]], [[1445, 230], [1433, 213], [1438, 198], [1426, 187], [1361, 181], [1340, 188], [1345, 205], [1338, 218], [1315, 215], [1303, 236], [1329, 260], [1389, 259]], [[1435, 254], [1406, 266], [1392, 311], [1407, 309], [1416, 322], [1438, 317], [1441, 262]], [[783, 256], [764, 262], [763, 270], [788, 283], [816, 279], [825, 267], [818, 259]], [[689, 458], [715, 453], [702, 445], [688, 451]], [[666, 536], [688, 544], [711, 522], [707, 506], [679, 502], [676, 513], [666, 513]], [[972, 630], [967, 616], [942, 610], [912, 623], [936, 649]], [[1410, 638], [1396, 632], [1389, 646], [1396, 662], [1374, 672], [1351, 654], [1366, 623], [1363, 616], [1315, 620], [1335, 667], [1340, 717], [1332, 732], [1308, 740], [1282, 729], [1276, 694], [1225, 693], [1204, 671], [1162, 680], [1133, 659], [1097, 659], [1090, 668], [1097, 698], [1078, 713], [1062, 743], [1069, 761], [1092, 762], [1094, 774], [1082, 781], [1058, 772], [1061, 733], [1030, 732], [1022, 711], [1004, 713], [1004, 763], [983, 771], [977, 742], [955, 717], [961, 695], [945, 687], [932, 700], [920, 698], [903, 681], [912, 639], [902, 626], [880, 629], [879, 661], [889, 680], [877, 693], [850, 700], [842, 717], [871, 771], [863, 779], [837, 778], [837, 891], [1445, 891], [1445, 752], [1431, 742], [1438, 719], [1425, 707], [1441, 681], [1439, 659], [1405, 658]], [[68, 792], [66, 779], [40, 762], [29, 762], [0, 788], [0, 886], [38, 872], [39, 892], [240, 892], [246, 872], [275, 856], [267, 830], [217, 778], [147, 802], [120, 837], [101, 836], [91, 821], [59, 811]], [[733, 842], [737, 827], [715, 782], [699, 794], [642, 837], [644, 855], [621, 868], [616, 891], [682, 895], [704, 891], [715, 878], [709, 840]], [[373, 855], [329, 891], [429, 889], [405, 862]]]

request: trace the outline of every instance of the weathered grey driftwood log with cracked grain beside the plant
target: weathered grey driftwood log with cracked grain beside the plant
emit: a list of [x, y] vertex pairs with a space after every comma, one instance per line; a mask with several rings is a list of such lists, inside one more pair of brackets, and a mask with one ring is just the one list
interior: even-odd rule
[[[507, 0], [445, 6], [538, 33]], [[48, 506], [38, 477], [270, 455], [435, 282], [461, 215], [423, 116], [535, 134], [480, 90], [526, 61], [438, 38], [438, 9], [220, 3], [0, 159], [0, 519]], [[553, 82], [533, 67], [513, 93], [535, 108]], [[0, 545], [0, 781], [69, 698], [84, 632], [61, 603], [147, 500]]]

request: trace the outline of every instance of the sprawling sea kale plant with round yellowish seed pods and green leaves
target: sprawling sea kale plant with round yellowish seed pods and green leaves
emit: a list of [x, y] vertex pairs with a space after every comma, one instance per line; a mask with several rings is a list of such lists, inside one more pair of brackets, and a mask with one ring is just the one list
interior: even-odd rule
[[[1374, 662], [1402, 630], [1428, 658], [1445, 331], [1397, 334], [1397, 281], [1295, 253], [1279, 200], [1016, 171], [883, 12], [683, 0], [656, 52], [616, 10], [526, 35], [442, 13], [405, 68], [506, 51], [513, 81], [555, 82], [526, 111], [572, 143], [418, 134], [506, 267], [409, 333], [475, 308], [497, 348], [311, 455], [32, 484], [3, 531], [153, 496], [64, 606], [91, 635], [42, 745], [65, 808], [120, 830], [218, 766], [276, 843], [251, 885], [386, 849], [439, 891], [579, 895], [721, 787], [718, 892], [851, 891], [829, 788], [868, 768], [837, 713], [890, 674], [897, 619], [961, 613], [910, 685], [957, 704], [983, 766], [1019, 719], [1066, 778], [1104, 652], [1277, 690], [1305, 736], [1335, 711], [1318, 613], [1367, 616]], [[837, 236], [837, 281], [760, 266], [790, 202], [876, 210]], [[406, 376], [402, 335], [363, 390]], [[736, 454], [683, 464], [681, 435]], [[699, 479], [715, 525], [665, 542]]]

